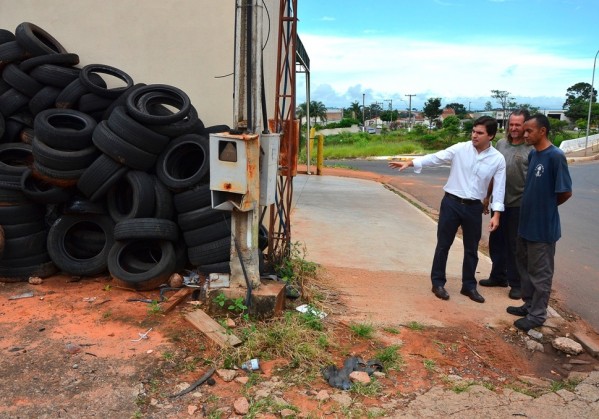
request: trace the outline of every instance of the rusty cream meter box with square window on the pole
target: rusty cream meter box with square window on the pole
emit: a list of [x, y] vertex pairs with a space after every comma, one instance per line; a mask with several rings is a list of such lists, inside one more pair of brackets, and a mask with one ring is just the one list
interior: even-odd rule
[[251, 211], [257, 207], [260, 143], [257, 134], [210, 134], [212, 208]]

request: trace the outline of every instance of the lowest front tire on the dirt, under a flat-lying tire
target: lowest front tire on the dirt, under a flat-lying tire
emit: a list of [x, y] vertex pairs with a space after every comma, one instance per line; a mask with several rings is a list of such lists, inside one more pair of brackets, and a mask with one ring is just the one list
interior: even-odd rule
[[[148, 269], [139, 269], [139, 263], [126, 264], [132, 254], [146, 262]], [[117, 241], [108, 255], [108, 271], [116, 283], [136, 290], [151, 290], [167, 283], [175, 266], [175, 249], [168, 240]]]

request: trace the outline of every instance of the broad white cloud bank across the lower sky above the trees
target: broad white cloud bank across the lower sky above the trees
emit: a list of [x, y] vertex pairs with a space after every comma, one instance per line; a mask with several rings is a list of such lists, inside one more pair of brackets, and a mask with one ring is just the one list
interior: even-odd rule
[[[351, 91], [356, 86], [379, 101], [407, 93], [418, 94], [422, 101], [488, 98], [492, 89], [516, 97], [564, 98], [568, 87], [585, 81], [591, 72], [588, 60], [544, 52], [543, 45], [524, 44], [522, 39], [458, 44], [400, 37], [301, 37], [310, 56], [312, 100], [326, 105], [317, 93], [330, 100], [336, 94], [343, 101], [335, 106], [343, 106], [348, 103], [345, 96], [357, 93]], [[550, 45], [551, 40], [544, 42]], [[361, 99], [360, 94], [350, 102]]]

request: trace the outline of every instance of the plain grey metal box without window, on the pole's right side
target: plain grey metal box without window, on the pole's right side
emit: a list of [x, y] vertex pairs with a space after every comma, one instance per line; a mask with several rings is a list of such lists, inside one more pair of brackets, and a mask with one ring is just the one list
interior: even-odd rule
[[280, 134], [260, 135], [260, 205], [275, 203], [279, 171]]

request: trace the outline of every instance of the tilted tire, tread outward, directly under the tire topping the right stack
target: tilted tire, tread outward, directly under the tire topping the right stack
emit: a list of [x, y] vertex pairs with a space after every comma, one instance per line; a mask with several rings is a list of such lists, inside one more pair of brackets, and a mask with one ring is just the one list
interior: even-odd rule
[[169, 137], [159, 134], [131, 118], [124, 106], [116, 107], [108, 117], [108, 127], [119, 136], [142, 150], [160, 154], [169, 142]]

